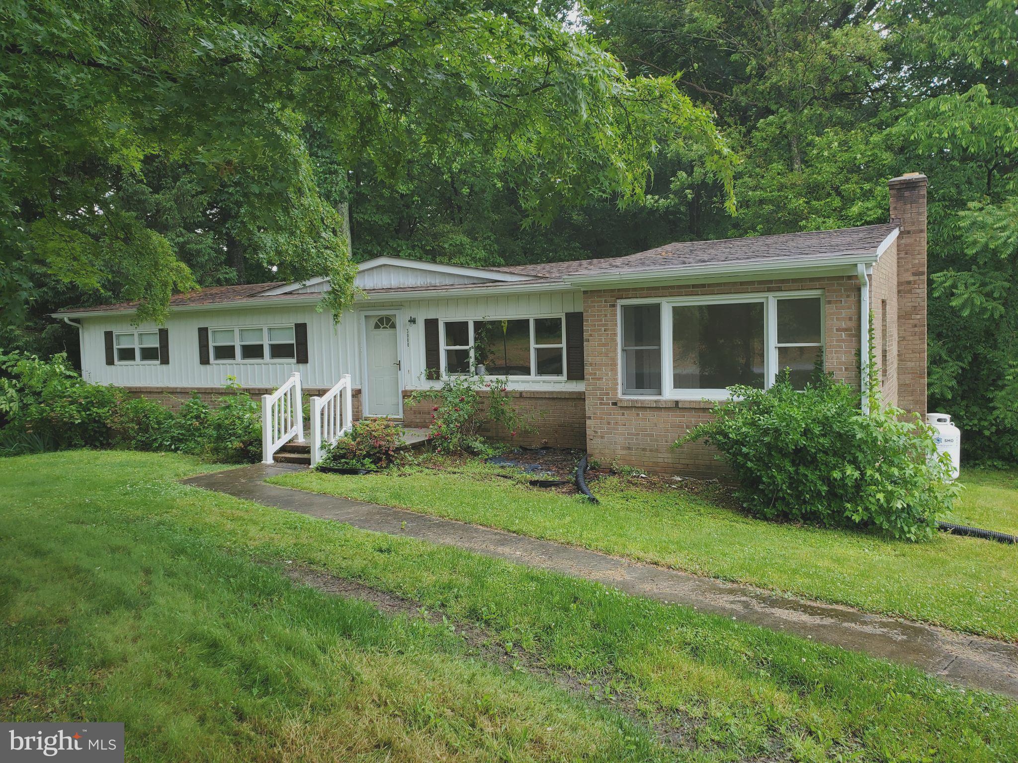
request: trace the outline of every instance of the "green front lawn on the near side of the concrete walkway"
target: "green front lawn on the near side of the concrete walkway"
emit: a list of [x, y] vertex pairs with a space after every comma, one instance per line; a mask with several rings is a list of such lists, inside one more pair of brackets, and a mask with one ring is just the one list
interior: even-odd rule
[[[0, 715], [124, 720], [132, 760], [1018, 757], [1018, 709], [1001, 697], [175, 482], [200, 468], [115, 452], [0, 461]], [[683, 745], [471, 658], [448, 629], [294, 588], [265, 564], [285, 561], [597, 677], [680, 719]]]

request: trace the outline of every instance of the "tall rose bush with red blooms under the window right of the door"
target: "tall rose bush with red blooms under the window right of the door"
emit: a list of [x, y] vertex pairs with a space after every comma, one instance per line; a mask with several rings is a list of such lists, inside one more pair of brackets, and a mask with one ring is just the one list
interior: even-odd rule
[[[451, 376], [437, 390], [418, 390], [410, 402], [436, 403], [432, 406], [431, 437], [438, 451], [476, 453], [487, 447], [478, 433], [487, 422], [502, 424], [512, 436], [530, 428], [512, 407], [506, 383], [495, 376]], [[487, 401], [483, 401], [483, 392]]]

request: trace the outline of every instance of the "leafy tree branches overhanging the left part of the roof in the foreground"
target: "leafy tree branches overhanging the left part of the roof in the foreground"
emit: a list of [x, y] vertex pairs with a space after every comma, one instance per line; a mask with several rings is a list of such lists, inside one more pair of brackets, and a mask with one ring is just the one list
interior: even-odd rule
[[12, 0], [0, 43], [8, 322], [44, 280], [157, 319], [195, 284], [138, 196], [162, 186], [154, 167], [208, 194], [227, 249], [281, 278], [329, 276], [338, 311], [352, 268], [312, 129], [336, 167], [391, 183], [421, 156], [483, 157], [539, 222], [590, 194], [639, 198], [676, 138], [729, 182], [706, 111], [527, 2]]

